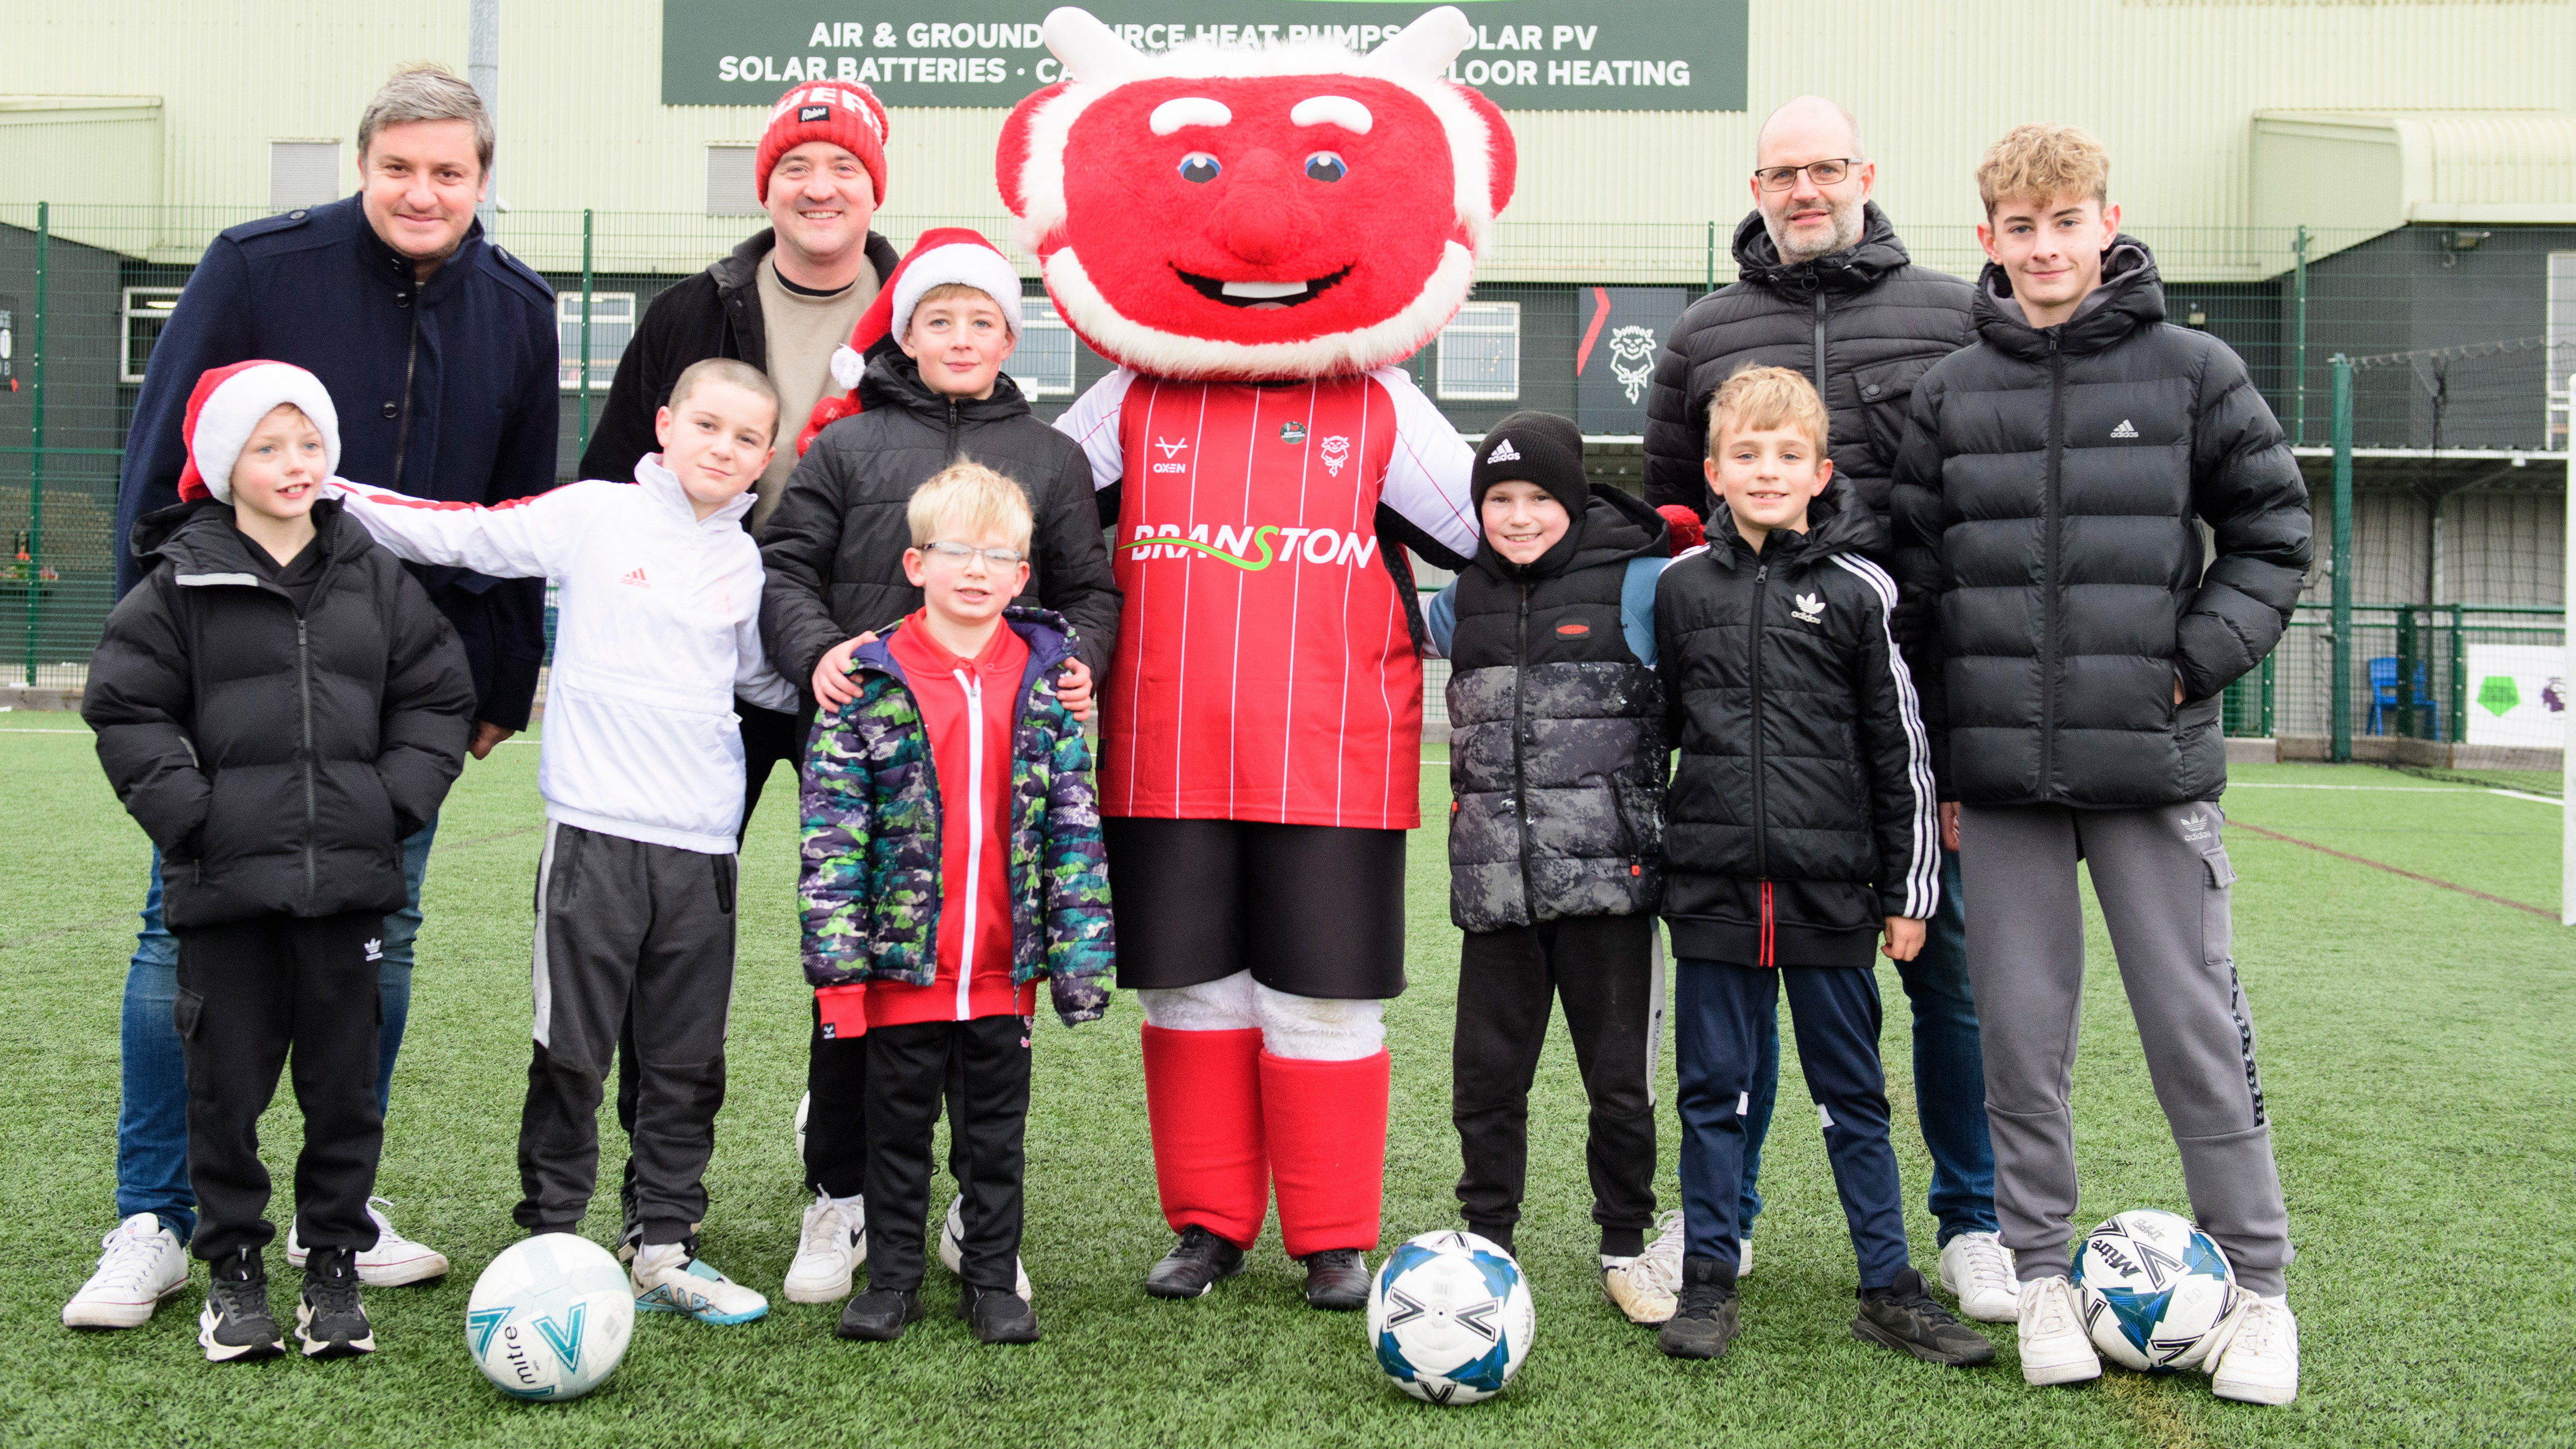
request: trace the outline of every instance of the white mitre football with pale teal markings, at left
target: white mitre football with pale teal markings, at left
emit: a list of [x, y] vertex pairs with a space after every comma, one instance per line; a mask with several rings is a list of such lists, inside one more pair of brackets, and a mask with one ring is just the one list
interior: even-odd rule
[[600, 1387], [634, 1325], [626, 1269], [572, 1233], [502, 1248], [466, 1300], [466, 1351], [510, 1398], [567, 1400]]

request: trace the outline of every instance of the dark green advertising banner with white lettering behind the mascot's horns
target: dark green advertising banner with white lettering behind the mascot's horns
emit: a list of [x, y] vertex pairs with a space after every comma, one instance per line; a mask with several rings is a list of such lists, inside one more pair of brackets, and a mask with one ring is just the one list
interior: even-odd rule
[[[1752, 0], [1463, 0], [1450, 80], [1507, 111], [1744, 111]], [[886, 106], [1015, 106], [1054, 85], [1056, 0], [662, 0], [662, 106], [768, 106], [863, 80]], [[1391, 0], [1100, 0], [1141, 51], [1182, 41], [1373, 49], [1422, 15]]]

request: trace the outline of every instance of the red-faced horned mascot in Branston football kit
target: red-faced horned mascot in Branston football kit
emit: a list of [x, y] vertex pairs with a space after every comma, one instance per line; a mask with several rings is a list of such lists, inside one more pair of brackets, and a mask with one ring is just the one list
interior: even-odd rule
[[1360, 1307], [1422, 821], [1404, 546], [1463, 566], [1479, 535], [1473, 450], [1394, 363], [1466, 301], [1512, 134], [1445, 80], [1455, 8], [1365, 57], [1043, 33], [1066, 80], [1012, 111], [999, 185], [1118, 363], [1056, 427], [1115, 489], [1100, 813], [1180, 1233], [1146, 1287], [1239, 1271], [1275, 1184], [1309, 1302]]

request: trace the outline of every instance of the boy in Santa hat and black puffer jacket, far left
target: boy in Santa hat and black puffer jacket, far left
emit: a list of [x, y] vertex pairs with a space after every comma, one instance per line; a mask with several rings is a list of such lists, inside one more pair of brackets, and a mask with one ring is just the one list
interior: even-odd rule
[[[376, 957], [407, 901], [402, 836], [464, 770], [474, 677], [430, 597], [322, 499], [340, 461], [304, 368], [234, 363], [188, 399], [180, 502], [134, 528], [149, 574], [108, 615], [80, 713], [162, 849], [188, 1060], [188, 1176], [211, 1266], [206, 1359], [283, 1354], [260, 1253], [260, 1109], [294, 1048], [307, 1356], [368, 1354]], [[317, 502], [322, 499], [322, 502]]]

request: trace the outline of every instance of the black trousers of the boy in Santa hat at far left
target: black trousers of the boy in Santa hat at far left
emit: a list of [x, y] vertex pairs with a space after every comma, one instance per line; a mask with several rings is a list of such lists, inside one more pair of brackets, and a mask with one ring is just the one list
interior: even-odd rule
[[307, 1248], [374, 1248], [384, 1109], [376, 1104], [376, 965], [381, 911], [252, 916], [178, 927], [178, 1024], [188, 1063], [188, 1179], [196, 1184], [196, 1256], [260, 1251], [268, 1168], [260, 1112], [294, 1060], [304, 1150], [296, 1153], [296, 1235]]

